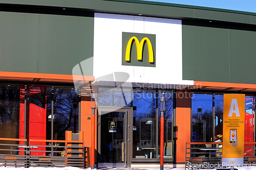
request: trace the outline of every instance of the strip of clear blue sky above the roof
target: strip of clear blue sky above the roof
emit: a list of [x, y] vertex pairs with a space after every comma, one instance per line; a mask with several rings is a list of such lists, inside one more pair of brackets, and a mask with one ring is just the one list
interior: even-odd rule
[[194, 5], [201, 7], [221, 8], [230, 9], [236, 11], [256, 12], [256, 1], [255, 0], [151, 0], [154, 2], [172, 3], [172, 4], [183, 4], [183, 5]]

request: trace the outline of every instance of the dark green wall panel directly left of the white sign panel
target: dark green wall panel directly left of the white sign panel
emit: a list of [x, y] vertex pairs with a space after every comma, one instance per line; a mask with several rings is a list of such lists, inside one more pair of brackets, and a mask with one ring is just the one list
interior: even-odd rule
[[[73, 67], [93, 57], [93, 17], [40, 15], [38, 72], [72, 75]], [[90, 72], [93, 76], [93, 63]]]

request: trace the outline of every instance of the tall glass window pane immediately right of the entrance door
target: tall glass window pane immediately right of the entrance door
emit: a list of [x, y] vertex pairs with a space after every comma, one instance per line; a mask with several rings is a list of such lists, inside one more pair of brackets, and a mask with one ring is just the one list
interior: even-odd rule
[[156, 90], [134, 89], [133, 158], [156, 158]]

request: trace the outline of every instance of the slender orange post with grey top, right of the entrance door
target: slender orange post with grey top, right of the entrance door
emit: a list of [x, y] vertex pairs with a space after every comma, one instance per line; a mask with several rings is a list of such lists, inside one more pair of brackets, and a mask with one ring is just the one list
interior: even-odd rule
[[161, 105], [161, 102], [165, 102], [165, 98], [161, 97], [160, 98], [160, 111], [161, 111], [161, 131], [160, 131], [160, 170], [163, 170], [163, 143], [164, 143], [164, 135], [163, 135], [163, 131], [164, 131], [164, 109], [162, 108], [163, 106]]

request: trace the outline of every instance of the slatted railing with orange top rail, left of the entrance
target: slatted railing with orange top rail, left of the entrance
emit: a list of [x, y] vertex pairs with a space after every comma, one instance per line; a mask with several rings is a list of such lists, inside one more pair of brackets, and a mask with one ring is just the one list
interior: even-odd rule
[[85, 168], [88, 152], [83, 141], [0, 138], [2, 166]]

